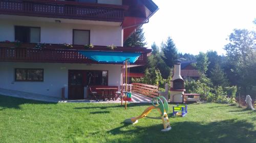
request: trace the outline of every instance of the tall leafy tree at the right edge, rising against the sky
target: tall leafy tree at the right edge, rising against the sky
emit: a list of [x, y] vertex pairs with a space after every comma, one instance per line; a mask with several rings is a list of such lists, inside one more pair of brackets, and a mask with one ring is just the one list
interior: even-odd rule
[[227, 52], [228, 66], [231, 68], [230, 73], [234, 85], [241, 86], [244, 91], [256, 85], [253, 79], [253, 69], [255, 65], [255, 43], [256, 33], [245, 29], [234, 29], [229, 35], [229, 43], [224, 49]]

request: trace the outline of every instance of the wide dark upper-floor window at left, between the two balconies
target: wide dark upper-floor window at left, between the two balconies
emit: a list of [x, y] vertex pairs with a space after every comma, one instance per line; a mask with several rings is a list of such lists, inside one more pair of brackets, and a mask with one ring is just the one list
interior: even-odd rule
[[15, 40], [24, 43], [40, 42], [40, 27], [15, 26]]

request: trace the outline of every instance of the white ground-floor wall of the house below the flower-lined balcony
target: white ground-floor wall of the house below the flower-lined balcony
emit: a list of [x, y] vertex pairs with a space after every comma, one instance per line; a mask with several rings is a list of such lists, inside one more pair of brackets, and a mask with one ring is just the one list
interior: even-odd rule
[[[66, 69], [61, 69], [66, 67]], [[44, 69], [44, 81], [15, 81], [15, 68]], [[7, 63], [0, 62], [0, 88], [61, 97], [61, 88], [68, 86], [68, 70], [108, 70], [109, 85], [120, 86], [120, 65], [86, 65], [86, 64], [54, 64], [54, 63]], [[68, 97], [66, 88], [65, 97]]]

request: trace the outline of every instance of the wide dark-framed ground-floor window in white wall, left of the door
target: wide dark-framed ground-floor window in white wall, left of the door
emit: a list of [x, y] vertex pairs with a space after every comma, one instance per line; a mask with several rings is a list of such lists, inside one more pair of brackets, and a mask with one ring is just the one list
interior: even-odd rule
[[15, 69], [15, 81], [44, 81], [44, 69]]

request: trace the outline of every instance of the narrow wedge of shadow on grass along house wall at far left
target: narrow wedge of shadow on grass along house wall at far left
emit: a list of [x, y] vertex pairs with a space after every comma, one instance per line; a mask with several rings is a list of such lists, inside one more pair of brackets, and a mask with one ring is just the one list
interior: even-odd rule
[[19, 106], [22, 104], [57, 104], [57, 103], [35, 101], [30, 99], [0, 95], [0, 111], [8, 108], [20, 109]]

